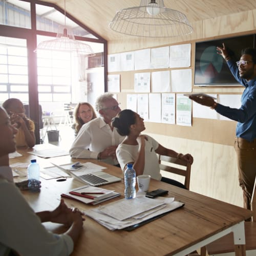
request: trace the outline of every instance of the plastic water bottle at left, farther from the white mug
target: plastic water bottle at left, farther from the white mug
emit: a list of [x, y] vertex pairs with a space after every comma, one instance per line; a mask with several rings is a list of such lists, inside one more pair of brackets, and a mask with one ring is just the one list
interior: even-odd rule
[[40, 167], [36, 163], [36, 159], [32, 159], [28, 166], [28, 180], [29, 190], [34, 192], [40, 191]]

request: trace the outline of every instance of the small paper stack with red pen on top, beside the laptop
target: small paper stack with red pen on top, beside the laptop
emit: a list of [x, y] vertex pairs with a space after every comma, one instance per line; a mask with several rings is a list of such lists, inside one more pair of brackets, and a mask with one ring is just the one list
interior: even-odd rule
[[118, 196], [120, 194], [114, 190], [88, 185], [73, 189], [67, 194], [61, 194], [61, 197], [75, 199], [86, 204], [99, 204]]

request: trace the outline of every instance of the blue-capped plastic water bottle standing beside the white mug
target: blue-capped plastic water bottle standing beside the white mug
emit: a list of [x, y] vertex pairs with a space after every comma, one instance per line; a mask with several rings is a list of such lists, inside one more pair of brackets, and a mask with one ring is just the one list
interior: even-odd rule
[[136, 197], [136, 172], [133, 168], [133, 164], [127, 164], [127, 169], [124, 171], [124, 197], [125, 199], [132, 199]]

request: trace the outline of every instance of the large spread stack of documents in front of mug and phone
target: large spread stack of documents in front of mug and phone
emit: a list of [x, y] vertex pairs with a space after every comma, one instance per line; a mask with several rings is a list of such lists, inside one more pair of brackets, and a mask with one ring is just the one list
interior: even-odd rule
[[99, 206], [84, 214], [110, 230], [133, 230], [183, 205], [182, 202], [174, 201], [174, 198], [151, 199], [140, 196]]

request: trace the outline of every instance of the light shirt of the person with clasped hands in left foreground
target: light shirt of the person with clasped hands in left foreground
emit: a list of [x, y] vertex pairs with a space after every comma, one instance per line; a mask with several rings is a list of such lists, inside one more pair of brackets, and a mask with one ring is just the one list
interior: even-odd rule
[[0, 168], [0, 255], [12, 248], [20, 255], [69, 255], [73, 240], [67, 234], [53, 234], [41, 224], [13, 182], [8, 182]]

